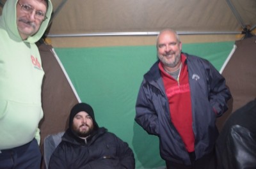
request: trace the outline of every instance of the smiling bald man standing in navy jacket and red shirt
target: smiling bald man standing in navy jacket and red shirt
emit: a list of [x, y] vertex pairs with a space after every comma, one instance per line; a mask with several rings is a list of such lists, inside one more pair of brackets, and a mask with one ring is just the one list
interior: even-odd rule
[[144, 75], [135, 121], [157, 135], [168, 169], [215, 168], [216, 117], [227, 110], [225, 78], [209, 61], [181, 52], [172, 29], [157, 36], [159, 60]]

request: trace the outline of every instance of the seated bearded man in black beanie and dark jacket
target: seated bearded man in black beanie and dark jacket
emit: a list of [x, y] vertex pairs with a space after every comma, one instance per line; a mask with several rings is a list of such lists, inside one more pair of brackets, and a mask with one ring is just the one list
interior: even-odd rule
[[129, 145], [106, 128], [99, 128], [92, 107], [75, 105], [69, 128], [52, 153], [49, 169], [134, 169], [134, 154]]

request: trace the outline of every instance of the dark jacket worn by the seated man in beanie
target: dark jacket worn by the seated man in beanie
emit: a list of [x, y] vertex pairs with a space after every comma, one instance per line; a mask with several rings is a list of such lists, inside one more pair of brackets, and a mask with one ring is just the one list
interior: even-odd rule
[[106, 128], [99, 128], [86, 140], [67, 129], [53, 152], [49, 169], [134, 169], [129, 145]]

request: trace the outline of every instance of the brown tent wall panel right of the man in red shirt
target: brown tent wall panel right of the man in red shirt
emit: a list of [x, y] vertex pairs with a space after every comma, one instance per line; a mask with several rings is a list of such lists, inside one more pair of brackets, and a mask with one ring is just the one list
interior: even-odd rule
[[222, 75], [232, 94], [228, 101], [228, 111], [220, 117], [218, 126], [238, 108], [256, 97], [256, 36], [236, 41], [236, 51], [232, 55]]

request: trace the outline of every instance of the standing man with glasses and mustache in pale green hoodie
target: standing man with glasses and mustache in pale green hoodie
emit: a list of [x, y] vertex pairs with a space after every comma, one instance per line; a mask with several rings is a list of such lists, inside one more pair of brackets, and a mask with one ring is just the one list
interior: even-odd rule
[[38, 123], [44, 70], [36, 41], [47, 29], [50, 0], [8, 0], [0, 17], [0, 168], [40, 168]]

